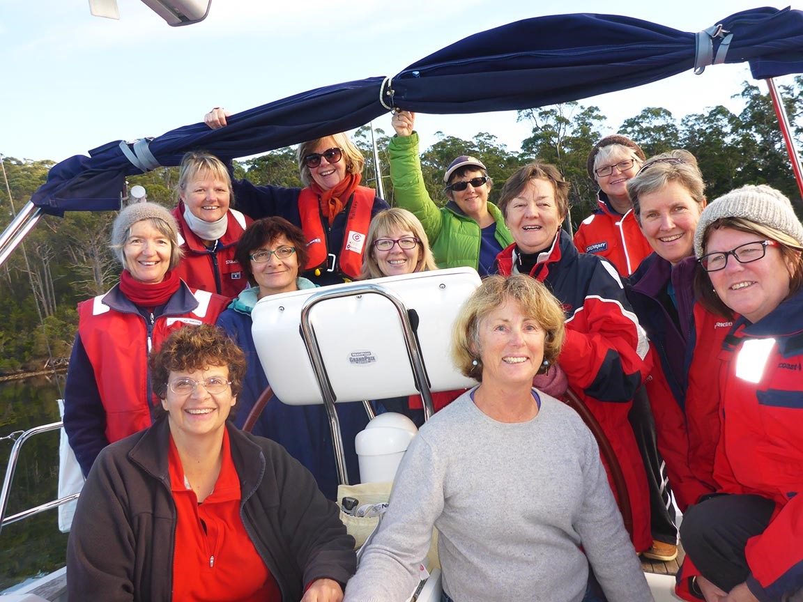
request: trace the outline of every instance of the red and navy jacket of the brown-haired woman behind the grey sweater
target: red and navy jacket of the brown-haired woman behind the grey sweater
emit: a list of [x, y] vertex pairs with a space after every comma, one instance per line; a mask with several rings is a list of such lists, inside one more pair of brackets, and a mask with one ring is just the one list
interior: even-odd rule
[[[501, 275], [514, 271], [516, 245], [496, 258]], [[609, 262], [579, 254], [561, 230], [546, 261], [530, 275], [545, 283], [563, 304], [566, 340], [560, 367], [605, 431], [624, 474], [633, 510], [636, 551], [652, 545], [650, 502], [638, 445], [627, 420], [635, 392], [650, 372], [648, 345], [630, 311], [622, 281]]]

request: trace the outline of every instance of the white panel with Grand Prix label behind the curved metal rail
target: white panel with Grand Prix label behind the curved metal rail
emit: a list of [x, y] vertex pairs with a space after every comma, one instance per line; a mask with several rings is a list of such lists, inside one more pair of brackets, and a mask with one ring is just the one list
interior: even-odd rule
[[[451, 328], [463, 303], [479, 287], [467, 267], [390, 276], [368, 281], [393, 291], [418, 316], [418, 342], [430, 390], [467, 388], [475, 382], [450, 360]], [[305, 289], [260, 299], [251, 313], [254, 343], [273, 393], [289, 405], [322, 404], [304, 340], [301, 308], [318, 291], [358, 283]], [[365, 293], [326, 299], [310, 311], [327, 376], [336, 401], [363, 401], [415, 395], [402, 322], [393, 303]]]

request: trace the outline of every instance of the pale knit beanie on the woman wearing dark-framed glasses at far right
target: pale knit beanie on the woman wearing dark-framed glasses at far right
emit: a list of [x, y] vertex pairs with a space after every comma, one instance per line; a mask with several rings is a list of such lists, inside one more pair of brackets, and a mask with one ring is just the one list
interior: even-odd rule
[[695, 255], [703, 256], [703, 237], [714, 222], [722, 218], [744, 218], [789, 234], [803, 246], [803, 224], [780, 191], [766, 184], [748, 184], [711, 202], [700, 214], [695, 230]]

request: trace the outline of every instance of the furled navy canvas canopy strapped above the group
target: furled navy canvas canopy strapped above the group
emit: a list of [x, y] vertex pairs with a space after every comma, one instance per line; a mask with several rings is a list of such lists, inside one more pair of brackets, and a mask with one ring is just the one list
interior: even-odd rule
[[357, 128], [394, 107], [442, 114], [540, 107], [745, 61], [756, 79], [803, 72], [803, 12], [745, 10], [698, 34], [607, 14], [529, 18], [471, 35], [393, 78], [320, 87], [238, 113], [226, 128], [194, 124], [104, 144], [55, 165], [31, 201], [54, 215], [119, 209], [126, 175], [178, 165], [192, 148], [247, 157]]

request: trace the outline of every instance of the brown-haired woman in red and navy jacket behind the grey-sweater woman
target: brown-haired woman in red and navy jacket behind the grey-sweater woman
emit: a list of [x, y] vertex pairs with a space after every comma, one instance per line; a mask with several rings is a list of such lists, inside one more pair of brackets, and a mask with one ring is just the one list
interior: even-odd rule
[[525, 165], [508, 178], [499, 209], [516, 242], [499, 254], [496, 266], [501, 275], [528, 274], [547, 284], [563, 304], [568, 317], [558, 363], [622, 465], [633, 510], [633, 543], [643, 551], [652, 545], [650, 506], [627, 414], [649, 372], [646, 337], [613, 264], [578, 253], [561, 230], [569, 212], [568, 193], [569, 184], [552, 165]]

